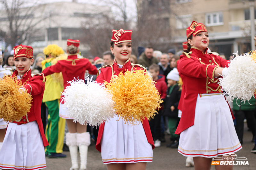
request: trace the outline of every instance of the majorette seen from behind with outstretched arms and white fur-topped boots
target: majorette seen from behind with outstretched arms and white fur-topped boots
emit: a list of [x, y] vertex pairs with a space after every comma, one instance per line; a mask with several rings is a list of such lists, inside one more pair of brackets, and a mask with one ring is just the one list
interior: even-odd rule
[[[68, 81], [76, 79], [84, 79], [84, 73], [86, 70], [89, 74], [97, 74], [97, 68], [90, 63], [87, 58], [77, 58], [79, 52], [79, 40], [67, 41], [67, 53], [68, 59], [60, 60], [55, 65], [44, 69], [43, 73], [45, 76], [62, 72], [64, 80], [64, 90], [67, 88]], [[60, 117], [66, 119], [68, 125], [68, 133], [66, 134], [66, 144], [69, 147], [71, 156], [72, 167], [70, 170], [78, 169], [77, 160], [77, 147], [79, 146], [80, 152], [80, 170], [85, 170], [87, 165], [87, 151], [88, 146], [91, 144], [90, 133], [86, 132], [87, 125], [81, 125], [78, 122], [73, 122], [72, 117], [67, 116], [66, 109], [63, 108], [63, 96], [60, 99]]]

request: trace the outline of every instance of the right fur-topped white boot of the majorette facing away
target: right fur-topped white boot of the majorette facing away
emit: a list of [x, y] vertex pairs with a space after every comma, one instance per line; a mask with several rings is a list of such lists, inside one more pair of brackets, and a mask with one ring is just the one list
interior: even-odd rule
[[77, 133], [76, 137], [80, 153], [80, 170], [86, 170], [88, 146], [91, 144], [90, 133]]

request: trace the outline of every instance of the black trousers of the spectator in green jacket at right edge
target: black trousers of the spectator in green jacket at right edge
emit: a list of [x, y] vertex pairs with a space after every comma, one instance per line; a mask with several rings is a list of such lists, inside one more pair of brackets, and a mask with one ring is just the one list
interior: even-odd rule
[[236, 112], [236, 134], [239, 140], [244, 136], [244, 118], [247, 120], [248, 127], [252, 130], [252, 135], [256, 134], [256, 120], [254, 117], [255, 111], [239, 110]]

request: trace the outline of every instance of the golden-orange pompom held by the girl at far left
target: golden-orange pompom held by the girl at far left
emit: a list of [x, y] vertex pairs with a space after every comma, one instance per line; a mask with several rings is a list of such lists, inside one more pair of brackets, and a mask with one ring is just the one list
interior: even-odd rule
[[6, 122], [16, 121], [27, 115], [33, 99], [23, 88], [21, 81], [14, 79], [16, 78], [11, 76], [0, 78], [0, 118]]

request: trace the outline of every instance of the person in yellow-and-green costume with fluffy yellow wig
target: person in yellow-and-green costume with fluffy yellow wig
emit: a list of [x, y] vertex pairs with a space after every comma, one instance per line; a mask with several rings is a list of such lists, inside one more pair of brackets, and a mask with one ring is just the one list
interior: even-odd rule
[[[61, 54], [64, 54], [64, 51], [56, 44], [45, 47], [44, 55], [46, 56], [46, 60], [42, 61], [42, 70], [54, 65], [57, 62], [56, 57]], [[61, 77], [61, 75], [57, 77]], [[62, 154], [62, 148], [66, 119], [59, 117], [60, 97], [64, 89], [63, 79], [62, 82], [58, 81], [52, 75], [48, 75], [46, 78], [43, 102], [48, 107], [48, 124], [46, 126], [45, 136], [49, 142], [49, 146], [45, 148], [45, 155], [49, 158], [65, 158], [66, 155]]]

